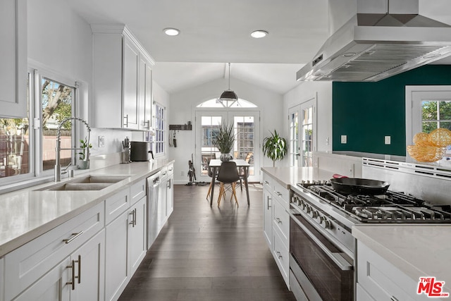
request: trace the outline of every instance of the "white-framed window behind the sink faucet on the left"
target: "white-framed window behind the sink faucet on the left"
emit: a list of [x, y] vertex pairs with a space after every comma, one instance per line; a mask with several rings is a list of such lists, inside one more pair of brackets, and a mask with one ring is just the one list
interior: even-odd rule
[[[75, 85], [28, 73], [28, 109], [25, 118], [0, 118], [0, 183], [13, 183], [54, 169], [58, 124], [74, 115]], [[35, 87], [39, 85], [39, 87]], [[35, 91], [39, 91], [35, 94]], [[33, 121], [30, 123], [30, 121]], [[61, 147], [72, 148], [75, 128], [63, 125]], [[68, 165], [75, 152], [61, 151], [61, 165]], [[46, 171], [48, 171], [46, 173]]]

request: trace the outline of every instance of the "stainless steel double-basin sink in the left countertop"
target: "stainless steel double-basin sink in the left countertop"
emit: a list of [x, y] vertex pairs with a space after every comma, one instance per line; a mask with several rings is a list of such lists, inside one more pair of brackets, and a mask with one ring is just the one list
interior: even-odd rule
[[45, 188], [37, 189], [37, 191], [54, 191], [54, 190], [102, 190], [109, 185], [125, 180], [128, 176], [86, 176], [77, 178], [66, 183], [58, 183]]

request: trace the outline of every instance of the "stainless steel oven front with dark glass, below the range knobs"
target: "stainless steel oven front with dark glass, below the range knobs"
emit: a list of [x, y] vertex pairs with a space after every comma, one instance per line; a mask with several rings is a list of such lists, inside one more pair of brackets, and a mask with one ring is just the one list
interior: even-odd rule
[[290, 267], [290, 288], [298, 300], [353, 300], [353, 259], [294, 213], [290, 219]]

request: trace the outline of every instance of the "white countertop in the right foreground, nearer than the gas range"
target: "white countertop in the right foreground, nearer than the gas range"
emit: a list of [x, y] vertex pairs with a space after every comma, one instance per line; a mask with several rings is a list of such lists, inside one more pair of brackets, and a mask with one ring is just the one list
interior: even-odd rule
[[364, 225], [352, 235], [414, 281], [435, 276], [451, 292], [451, 226]]

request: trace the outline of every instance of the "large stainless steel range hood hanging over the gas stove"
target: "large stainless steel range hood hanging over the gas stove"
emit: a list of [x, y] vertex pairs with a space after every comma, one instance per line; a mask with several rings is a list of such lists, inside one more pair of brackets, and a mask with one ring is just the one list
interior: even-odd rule
[[418, 0], [357, 0], [297, 80], [375, 82], [450, 56], [451, 26], [418, 11]]

